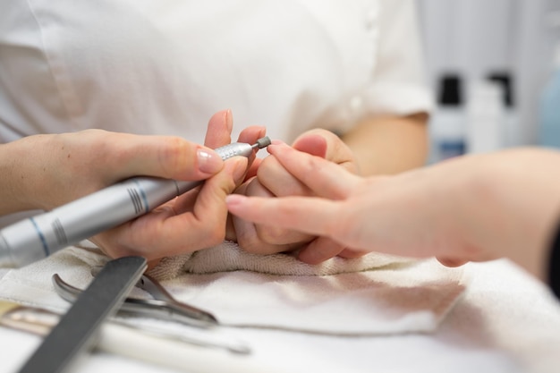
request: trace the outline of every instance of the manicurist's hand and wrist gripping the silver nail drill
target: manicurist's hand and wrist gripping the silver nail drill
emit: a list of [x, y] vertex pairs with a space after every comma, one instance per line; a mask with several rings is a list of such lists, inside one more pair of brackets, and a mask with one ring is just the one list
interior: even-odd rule
[[[232, 127], [230, 111], [213, 115], [206, 147], [177, 137], [100, 130], [30, 136], [2, 145], [0, 172], [10, 177], [0, 182], [6, 191], [1, 212], [48, 210], [138, 175], [206, 179], [201, 187], [91, 241], [110, 257], [148, 260], [216, 245], [225, 236], [225, 196], [242, 182], [248, 165], [245, 157], [224, 162], [212, 150], [230, 142]], [[252, 143], [263, 134], [263, 128], [249, 127], [240, 140]]]

